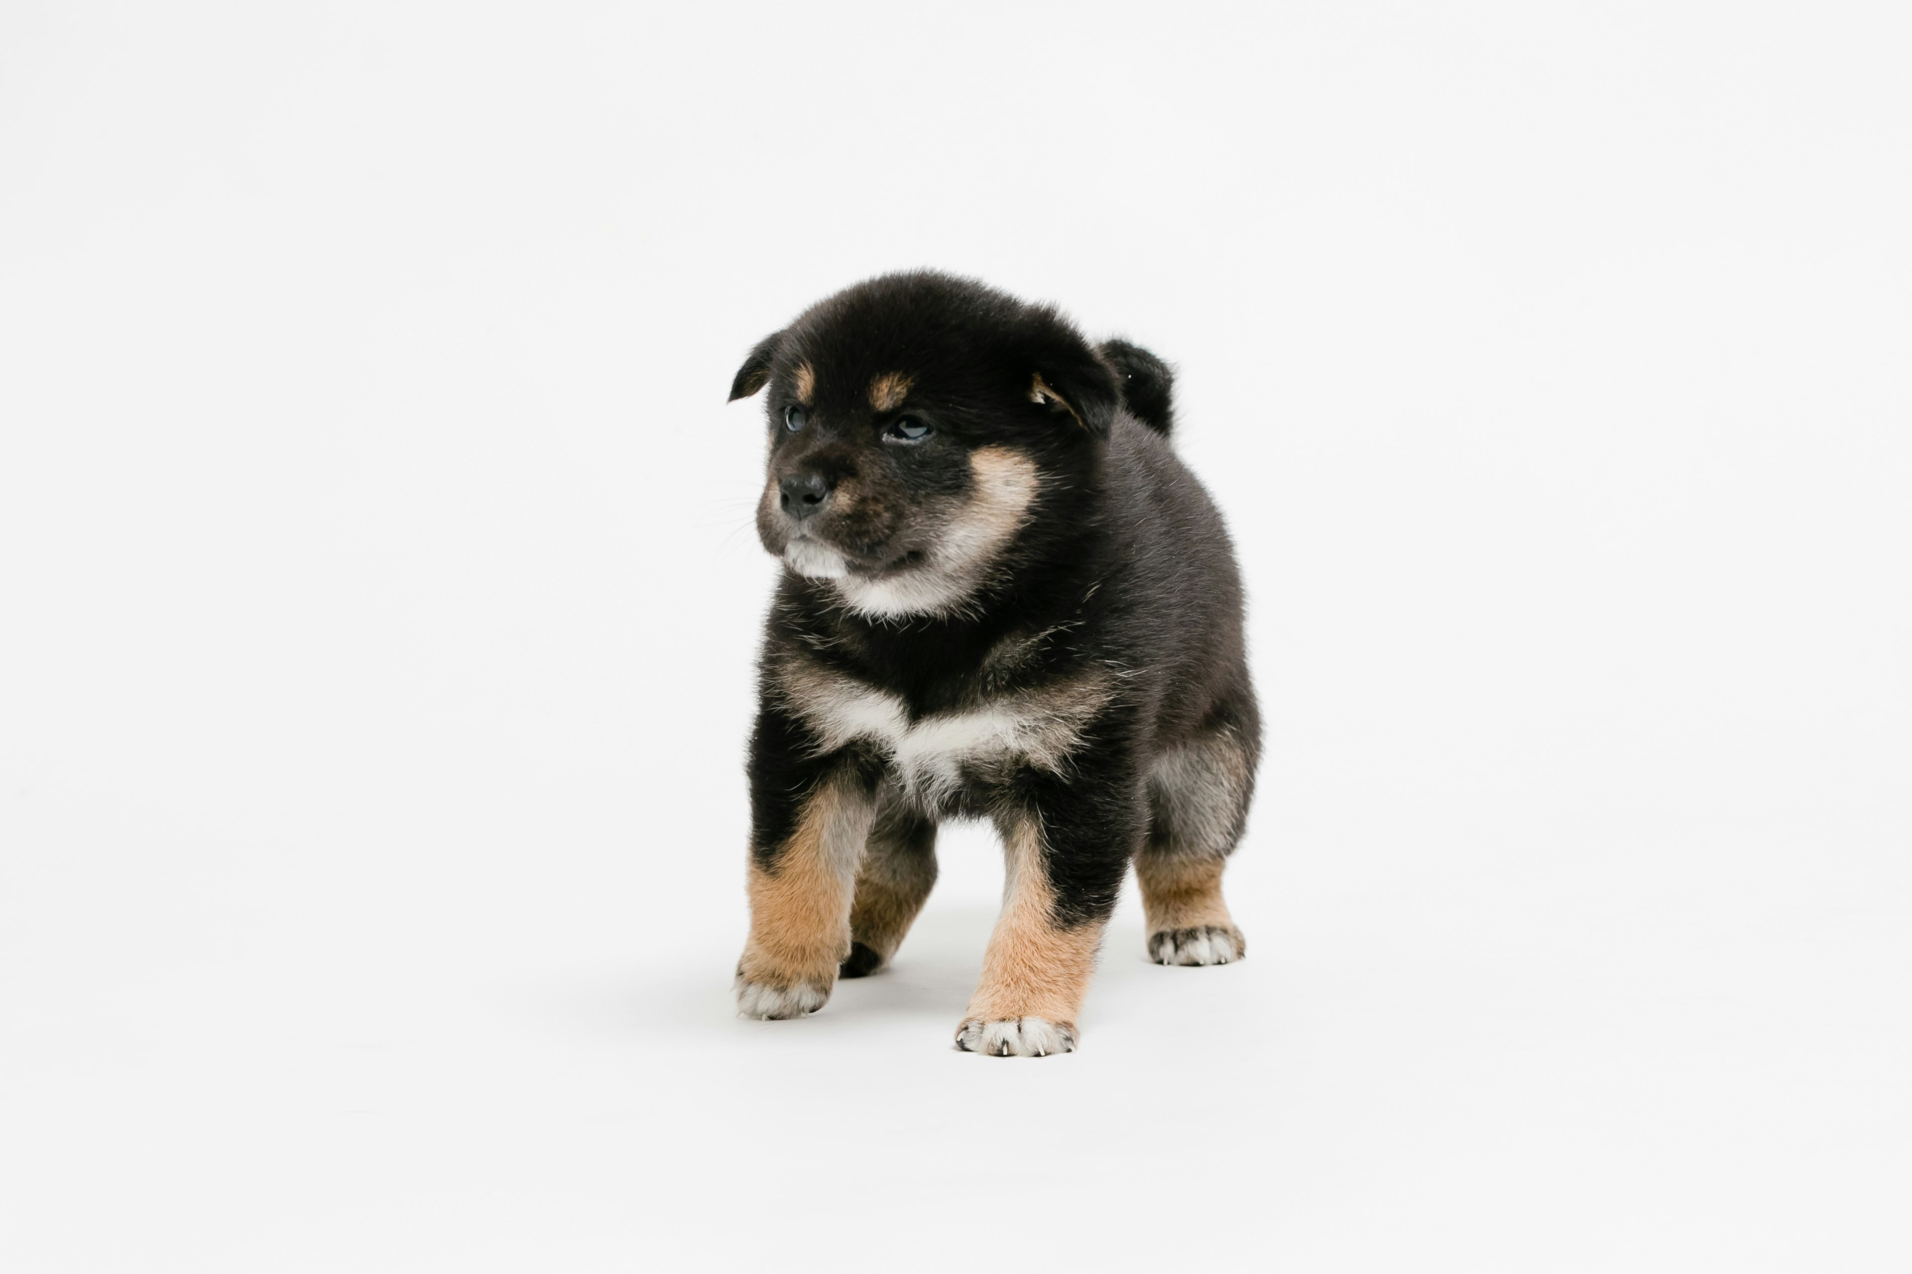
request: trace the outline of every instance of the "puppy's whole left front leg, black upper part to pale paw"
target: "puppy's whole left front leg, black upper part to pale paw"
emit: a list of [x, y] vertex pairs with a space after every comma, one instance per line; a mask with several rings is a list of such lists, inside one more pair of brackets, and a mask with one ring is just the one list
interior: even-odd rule
[[746, 1018], [801, 1018], [830, 999], [849, 955], [857, 863], [876, 808], [847, 760], [816, 766], [795, 785], [776, 762], [753, 749], [750, 940], [736, 965]]

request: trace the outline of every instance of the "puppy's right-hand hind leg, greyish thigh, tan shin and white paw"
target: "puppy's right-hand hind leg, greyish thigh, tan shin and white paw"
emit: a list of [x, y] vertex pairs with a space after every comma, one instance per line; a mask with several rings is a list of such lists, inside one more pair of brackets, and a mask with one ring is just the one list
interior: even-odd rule
[[1229, 965], [1249, 953], [1222, 900], [1222, 869], [1254, 793], [1254, 753], [1216, 730], [1164, 753], [1149, 774], [1149, 839], [1136, 854], [1149, 959]]

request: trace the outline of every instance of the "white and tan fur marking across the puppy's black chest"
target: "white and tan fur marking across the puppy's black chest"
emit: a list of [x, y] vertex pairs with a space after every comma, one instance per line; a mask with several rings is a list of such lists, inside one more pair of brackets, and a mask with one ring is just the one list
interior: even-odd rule
[[1103, 678], [1071, 676], [1002, 693], [975, 693], [937, 712], [902, 695], [815, 663], [786, 665], [788, 707], [816, 735], [820, 753], [874, 747], [895, 779], [925, 804], [945, 804], [977, 781], [1015, 766], [1061, 774], [1094, 716], [1109, 703]]

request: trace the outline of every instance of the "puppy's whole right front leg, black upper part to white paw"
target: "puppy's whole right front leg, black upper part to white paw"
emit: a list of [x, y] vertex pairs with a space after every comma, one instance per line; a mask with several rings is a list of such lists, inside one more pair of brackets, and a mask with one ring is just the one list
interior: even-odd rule
[[[1000, 819], [1002, 917], [956, 1047], [990, 1056], [1073, 1052], [1101, 930], [1128, 867], [1130, 831], [1061, 825], [1061, 812]], [[1113, 837], [1109, 833], [1115, 831]]]

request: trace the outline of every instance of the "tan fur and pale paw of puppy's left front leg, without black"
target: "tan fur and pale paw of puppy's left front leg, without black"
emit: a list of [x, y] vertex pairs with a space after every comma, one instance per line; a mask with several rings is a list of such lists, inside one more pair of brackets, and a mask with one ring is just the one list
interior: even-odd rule
[[750, 942], [738, 961], [738, 1007], [748, 1016], [816, 1012], [849, 955], [849, 907], [870, 835], [870, 798], [822, 781], [771, 871], [750, 863]]

